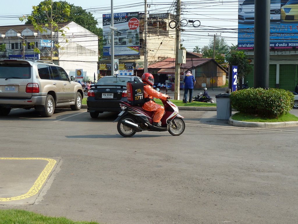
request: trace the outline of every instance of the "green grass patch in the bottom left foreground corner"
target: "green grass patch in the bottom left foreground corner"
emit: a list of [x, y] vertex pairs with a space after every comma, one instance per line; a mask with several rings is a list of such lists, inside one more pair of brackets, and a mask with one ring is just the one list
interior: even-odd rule
[[49, 217], [19, 209], [0, 210], [0, 224], [99, 224], [97, 222], [72, 221], [65, 217]]

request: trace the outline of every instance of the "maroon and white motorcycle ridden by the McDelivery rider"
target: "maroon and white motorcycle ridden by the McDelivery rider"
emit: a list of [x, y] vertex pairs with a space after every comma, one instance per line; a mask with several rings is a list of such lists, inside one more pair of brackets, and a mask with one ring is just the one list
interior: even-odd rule
[[164, 116], [161, 127], [152, 125], [153, 111], [145, 111], [141, 106], [132, 106], [126, 102], [120, 103], [122, 111], [118, 118], [117, 130], [123, 137], [131, 137], [141, 131], [168, 131], [171, 135], [181, 135], [185, 130], [184, 117], [179, 115], [178, 107], [170, 100], [163, 100]]

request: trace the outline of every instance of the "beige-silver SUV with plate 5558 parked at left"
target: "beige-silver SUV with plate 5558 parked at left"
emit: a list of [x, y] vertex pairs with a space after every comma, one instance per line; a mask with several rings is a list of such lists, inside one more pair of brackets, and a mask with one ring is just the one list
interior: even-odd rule
[[56, 107], [82, 106], [83, 89], [66, 71], [52, 62], [0, 60], [0, 116], [11, 108], [35, 108], [50, 117]]

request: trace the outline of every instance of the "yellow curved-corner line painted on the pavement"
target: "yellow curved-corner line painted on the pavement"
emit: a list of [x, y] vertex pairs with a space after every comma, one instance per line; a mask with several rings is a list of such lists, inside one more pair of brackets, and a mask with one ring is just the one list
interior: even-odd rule
[[28, 159], [28, 160], [43, 159], [43, 160], [48, 161], [48, 164], [45, 166], [44, 170], [41, 172], [39, 177], [35, 180], [34, 184], [32, 185], [32, 187], [29, 189], [29, 191], [26, 194], [22, 194], [22, 195], [15, 196], [15, 197], [0, 197], [0, 201], [21, 200], [21, 199], [28, 198], [28, 197], [31, 197], [31, 196], [37, 194], [57, 162], [55, 159], [48, 159], [48, 158], [4, 158], [4, 157], [0, 157], [0, 159]]

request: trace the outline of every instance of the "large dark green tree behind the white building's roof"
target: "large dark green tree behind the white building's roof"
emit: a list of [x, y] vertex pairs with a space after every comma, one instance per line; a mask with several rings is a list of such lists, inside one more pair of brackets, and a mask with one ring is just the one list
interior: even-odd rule
[[[48, 16], [43, 10], [42, 6], [45, 4], [49, 4], [50, 2], [52, 4], [53, 14], [55, 15], [55, 21], [57, 23], [73, 21], [98, 36], [98, 50], [100, 52], [100, 55], [102, 56], [103, 29], [97, 27], [97, 20], [94, 19], [93, 15], [90, 12], [87, 13], [86, 10], [84, 10], [82, 7], [75, 6], [74, 4], [69, 4], [67, 1], [53, 2], [52, 0], [45, 0], [41, 1], [41, 3], [38, 5], [36, 14], [33, 14], [32, 12], [31, 16], [33, 17], [33, 19], [35, 19], [35, 21], [40, 24], [46, 23]], [[69, 13], [64, 12], [64, 8], [67, 6], [69, 6]], [[32, 19], [28, 19], [26, 24], [32, 24]]]

